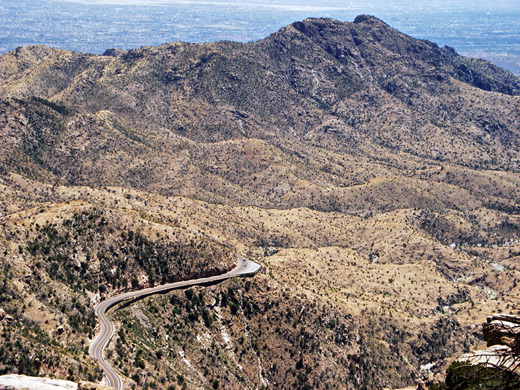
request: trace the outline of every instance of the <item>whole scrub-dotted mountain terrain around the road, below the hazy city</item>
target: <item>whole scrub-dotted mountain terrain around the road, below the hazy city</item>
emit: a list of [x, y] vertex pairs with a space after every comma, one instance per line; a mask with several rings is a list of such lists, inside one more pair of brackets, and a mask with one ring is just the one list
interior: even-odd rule
[[[358, 16], [0, 56], [0, 372], [125, 389], [446, 386], [518, 314], [520, 78]], [[433, 387], [432, 387], [433, 388]]]

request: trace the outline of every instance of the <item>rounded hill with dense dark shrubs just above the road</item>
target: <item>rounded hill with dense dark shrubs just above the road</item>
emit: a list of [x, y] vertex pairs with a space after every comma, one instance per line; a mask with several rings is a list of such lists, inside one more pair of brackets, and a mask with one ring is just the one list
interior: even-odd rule
[[25, 251], [36, 268], [74, 291], [105, 293], [225, 272], [235, 262], [230, 248], [169, 227], [149, 231], [99, 208], [61, 221], [34, 225]]

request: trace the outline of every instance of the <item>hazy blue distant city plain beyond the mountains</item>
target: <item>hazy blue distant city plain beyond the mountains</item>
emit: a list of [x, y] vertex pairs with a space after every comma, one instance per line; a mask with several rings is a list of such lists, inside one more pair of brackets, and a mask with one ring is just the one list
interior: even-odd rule
[[99, 54], [171, 41], [247, 42], [308, 17], [359, 14], [520, 74], [519, 0], [0, 0], [0, 54], [34, 44]]

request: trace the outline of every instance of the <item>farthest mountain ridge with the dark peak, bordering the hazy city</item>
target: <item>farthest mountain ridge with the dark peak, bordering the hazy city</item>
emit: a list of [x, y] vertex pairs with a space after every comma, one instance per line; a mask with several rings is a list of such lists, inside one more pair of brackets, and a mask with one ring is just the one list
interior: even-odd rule
[[[163, 139], [291, 139], [517, 169], [517, 99], [508, 96], [520, 79], [369, 16], [308, 19], [250, 44], [170, 43], [117, 57], [20, 48], [2, 68], [1, 96], [108, 110]], [[483, 91], [500, 94], [492, 102]]]

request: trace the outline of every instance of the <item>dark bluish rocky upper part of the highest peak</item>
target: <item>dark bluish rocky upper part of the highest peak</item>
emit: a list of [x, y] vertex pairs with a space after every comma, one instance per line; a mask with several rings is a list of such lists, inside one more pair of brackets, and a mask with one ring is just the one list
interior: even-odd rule
[[369, 74], [403, 78], [406, 69], [407, 77], [416, 80], [454, 78], [486, 91], [520, 93], [520, 79], [515, 75], [487, 61], [460, 56], [452, 48], [439, 48], [433, 42], [413, 38], [372, 15], [359, 15], [354, 22], [309, 18], [288, 27], [274, 34], [278, 43], [285, 42], [284, 47], [291, 47], [290, 42], [304, 39], [307, 42], [300, 45], [306, 49], [298, 53], [306, 60], [309, 56], [319, 56], [322, 50], [342, 64], [354, 66], [352, 61], [355, 61], [355, 74], [363, 73], [361, 68], [370, 69], [362, 76], [365, 80]]

